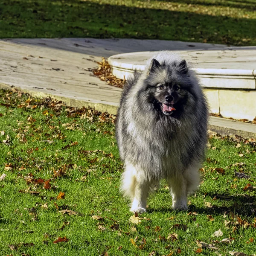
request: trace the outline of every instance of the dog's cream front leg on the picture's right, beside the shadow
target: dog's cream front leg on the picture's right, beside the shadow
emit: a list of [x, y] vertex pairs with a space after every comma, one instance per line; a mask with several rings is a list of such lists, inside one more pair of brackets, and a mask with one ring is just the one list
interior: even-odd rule
[[172, 209], [187, 210], [186, 179], [183, 176], [175, 177], [168, 180], [168, 185], [172, 194]]

